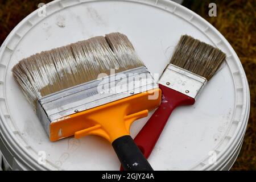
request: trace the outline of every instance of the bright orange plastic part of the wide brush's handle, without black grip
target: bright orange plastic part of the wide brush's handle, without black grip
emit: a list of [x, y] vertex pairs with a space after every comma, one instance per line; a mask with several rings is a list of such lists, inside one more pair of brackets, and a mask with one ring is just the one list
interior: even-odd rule
[[75, 138], [99, 135], [112, 143], [119, 137], [129, 135], [131, 123], [146, 117], [148, 110], [155, 109], [160, 101], [161, 90], [152, 89], [63, 117], [51, 123], [50, 140], [55, 141], [72, 135], [75, 135]]

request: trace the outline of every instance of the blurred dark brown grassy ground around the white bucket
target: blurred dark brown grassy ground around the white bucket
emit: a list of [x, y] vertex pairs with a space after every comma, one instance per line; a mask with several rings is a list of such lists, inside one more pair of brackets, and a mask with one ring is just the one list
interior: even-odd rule
[[[0, 45], [23, 18], [51, 0], [0, 0]], [[232, 170], [256, 169], [256, 1], [175, 0], [210, 22], [228, 40], [240, 58], [250, 86], [250, 117], [243, 146]], [[208, 15], [216, 3], [217, 16]]]

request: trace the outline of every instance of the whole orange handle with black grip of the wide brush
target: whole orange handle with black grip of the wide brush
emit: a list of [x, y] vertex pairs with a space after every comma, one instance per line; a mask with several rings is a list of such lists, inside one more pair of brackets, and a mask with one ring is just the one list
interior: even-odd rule
[[112, 143], [125, 170], [151, 171], [152, 167], [129, 135], [130, 126], [136, 119], [146, 117], [148, 110], [157, 107], [160, 101], [161, 90], [152, 89], [69, 115], [51, 123], [50, 139], [99, 135]]

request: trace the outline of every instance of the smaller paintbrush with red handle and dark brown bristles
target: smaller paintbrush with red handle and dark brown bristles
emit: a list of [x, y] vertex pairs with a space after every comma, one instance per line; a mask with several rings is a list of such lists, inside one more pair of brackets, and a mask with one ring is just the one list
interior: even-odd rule
[[159, 79], [162, 102], [134, 139], [146, 158], [150, 156], [172, 111], [177, 106], [195, 103], [225, 57], [220, 49], [191, 36], [181, 36], [170, 64]]

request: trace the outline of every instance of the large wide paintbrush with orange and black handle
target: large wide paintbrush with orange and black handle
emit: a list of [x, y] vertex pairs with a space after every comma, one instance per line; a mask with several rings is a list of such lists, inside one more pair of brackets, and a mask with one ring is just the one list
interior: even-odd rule
[[[112, 143], [126, 170], [152, 170], [129, 130], [160, 104], [161, 91], [125, 35], [97, 36], [37, 53], [16, 64], [13, 75], [51, 141], [99, 135]], [[147, 81], [133, 84], [144, 75]], [[116, 85], [122, 92], [112, 92]], [[148, 99], [152, 94], [155, 100]]]

